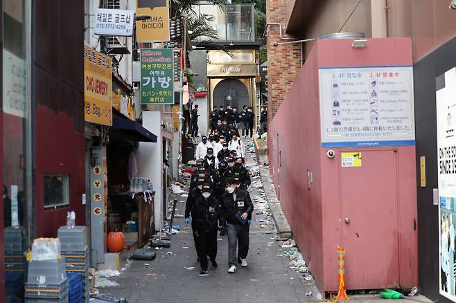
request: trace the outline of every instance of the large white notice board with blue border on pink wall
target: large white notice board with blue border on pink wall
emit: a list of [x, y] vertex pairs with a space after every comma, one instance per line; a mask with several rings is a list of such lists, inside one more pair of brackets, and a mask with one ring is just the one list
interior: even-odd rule
[[411, 66], [319, 68], [322, 147], [414, 145]]

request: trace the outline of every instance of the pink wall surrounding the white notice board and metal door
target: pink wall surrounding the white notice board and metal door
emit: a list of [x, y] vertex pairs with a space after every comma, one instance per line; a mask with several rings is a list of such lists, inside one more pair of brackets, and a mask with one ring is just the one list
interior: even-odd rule
[[[369, 39], [367, 48], [362, 49], [351, 48], [351, 43], [351, 39], [317, 42], [304, 67], [301, 68], [295, 84], [274, 116], [268, 133], [270, 170], [283, 211], [297, 244], [315, 276], [317, 286], [323, 291], [337, 291], [335, 248], [344, 243], [347, 235], [343, 234], [344, 223], [341, 222], [340, 205], [343, 196], [341, 196], [340, 178], [338, 178], [340, 157], [327, 158], [327, 149], [323, 149], [321, 144], [318, 68], [412, 64], [412, 45], [408, 38]], [[348, 148], [334, 150], [337, 155], [344, 150], [353, 151]], [[356, 150], [373, 151], [371, 155], [375, 162], [376, 158], [380, 159], [380, 153], [385, 148], [356, 148]], [[385, 190], [396, 190], [395, 201], [398, 212], [391, 216], [391, 218], [397, 218], [397, 221], [391, 222], [392, 235], [388, 237], [388, 239], [397, 240], [396, 243], [387, 245], [398, 251], [398, 256], [396, 255], [390, 262], [383, 260], [383, 264], [378, 264], [375, 256], [372, 256], [371, 262], [372, 266], [377, 266], [380, 272], [385, 268], [385, 277], [394, 275], [396, 268], [393, 266], [398, 267], [396, 270], [399, 273], [398, 281], [389, 283], [412, 287], [417, 284], [416, 230], [414, 230], [414, 220], [416, 222], [415, 148], [414, 146], [388, 147], [387, 150], [397, 153], [396, 163], [394, 163], [397, 169], [394, 177], [398, 180], [396, 185], [394, 183], [390, 185], [394, 189], [385, 188]], [[313, 184], [310, 190], [307, 188], [307, 170], [313, 173]], [[369, 172], [369, 174], [375, 177], [376, 172]], [[382, 180], [374, 180], [374, 182], [382, 182]], [[359, 190], [360, 196], [369, 194], [369, 187], [362, 187]], [[357, 215], [362, 216], [362, 214]], [[376, 224], [387, 223], [376, 222], [365, 228], [375, 230]], [[378, 240], [373, 239], [371, 244], [378, 245], [380, 243]], [[359, 249], [362, 250], [362, 248]], [[378, 249], [383, 248], [380, 246]], [[359, 268], [359, 264], [355, 264], [356, 260], [351, 259], [351, 264], [349, 260], [350, 255], [347, 253], [347, 266]], [[360, 277], [347, 275], [351, 278], [351, 281], [347, 281], [347, 285], [363, 288], [363, 285], [367, 287], [375, 284], [382, 287], [384, 285], [382, 283], [387, 283], [387, 279], [377, 281], [375, 276], [369, 275], [369, 268], [366, 268], [365, 274], [364, 282], [356, 280]]]

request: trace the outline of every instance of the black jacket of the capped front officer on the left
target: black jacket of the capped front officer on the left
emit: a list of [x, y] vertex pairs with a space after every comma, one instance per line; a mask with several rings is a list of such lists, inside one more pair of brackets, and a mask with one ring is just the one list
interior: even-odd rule
[[218, 228], [217, 222], [220, 218], [220, 203], [213, 196], [204, 199], [200, 196], [195, 201], [192, 210], [192, 226], [194, 230], [216, 230]]

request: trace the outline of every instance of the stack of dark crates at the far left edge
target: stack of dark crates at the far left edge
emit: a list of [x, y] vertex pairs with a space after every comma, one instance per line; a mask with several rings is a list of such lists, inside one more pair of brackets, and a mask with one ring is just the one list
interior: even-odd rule
[[19, 228], [7, 227], [3, 230], [5, 286], [10, 302], [20, 300], [24, 293], [24, 278], [27, 261], [24, 255], [23, 238], [22, 230]]

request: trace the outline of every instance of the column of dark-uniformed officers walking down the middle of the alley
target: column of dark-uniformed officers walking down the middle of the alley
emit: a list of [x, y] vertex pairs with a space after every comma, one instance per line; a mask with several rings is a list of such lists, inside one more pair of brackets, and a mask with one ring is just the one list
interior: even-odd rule
[[[238, 137], [237, 133], [233, 135]], [[213, 140], [220, 143], [220, 137], [213, 137]], [[244, 166], [244, 154], [238, 154], [236, 149], [228, 149], [226, 143], [222, 143], [222, 149], [216, 154], [214, 147], [207, 147], [205, 153], [198, 153], [197, 150], [197, 159], [197, 168], [191, 176], [184, 222], [189, 223], [191, 217], [193, 239], [201, 266], [200, 275], [207, 275], [207, 257], [212, 268], [218, 267], [219, 229], [220, 235], [228, 235], [228, 273], [236, 273], [236, 264], [247, 266], [249, 225], [254, 209], [247, 192], [250, 175]]]

